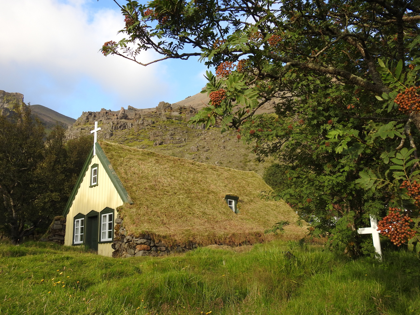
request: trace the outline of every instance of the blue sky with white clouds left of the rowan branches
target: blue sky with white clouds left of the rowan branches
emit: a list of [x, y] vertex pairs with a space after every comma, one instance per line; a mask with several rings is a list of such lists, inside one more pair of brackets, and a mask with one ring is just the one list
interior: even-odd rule
[[[207, 67], [198, 58], [143, 67], [104, 57], [102, 44], [118, 41], [123, 26], [113, 0], [0, 0], [0, 89], [78, 118], [88, 110], [177, 102], [205, 86]], [[142, 60], [154, 57], [147, 51]]]

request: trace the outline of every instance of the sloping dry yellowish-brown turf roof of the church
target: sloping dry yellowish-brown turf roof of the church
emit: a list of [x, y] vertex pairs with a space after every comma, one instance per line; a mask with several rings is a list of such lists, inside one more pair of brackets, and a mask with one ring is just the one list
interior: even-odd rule
[[[133, 200], [118, 208], [129, 234], [150, 233], [167, 241], [239, 244], [264, 241], [264, 231], [297, 215], [283, 201], [266, 201], [270, 187], [254, 172], [222, 168], [120, 144], [100, 142]], [[239, 197], [235, 214], [226, 194]], [[286, 227], [284, 239], [304, 236], [304, 228]]]

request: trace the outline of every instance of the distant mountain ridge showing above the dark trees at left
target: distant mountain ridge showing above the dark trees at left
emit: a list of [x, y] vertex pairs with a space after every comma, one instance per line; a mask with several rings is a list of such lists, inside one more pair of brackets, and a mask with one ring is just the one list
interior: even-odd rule
[[[21, 93], [8, 93], [0, 90], [0, 114], [9, 116], [13, 113], [13, 106], [24, 102], [24, 95]], [[76, 119], [65, 116], [42, 105], [30, 105], [31, 113], [37, 116], [44, 125], [47, 133], [56, 123], [62, 124], [66, 129], [73, 125]]]

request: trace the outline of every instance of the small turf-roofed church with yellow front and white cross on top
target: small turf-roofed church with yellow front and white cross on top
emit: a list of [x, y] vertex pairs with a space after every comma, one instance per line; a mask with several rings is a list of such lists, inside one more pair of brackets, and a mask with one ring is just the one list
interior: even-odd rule
[[[252, 244], [264, 230], [296, 214], [284, 202], [265, 201], [270, 187], [254, 172], [161, 155], [105, 141], [94, 145], [63, 216], [67, 246], [87, 245], [112, 256], [121, 219], [126, 236], [150, 234], [167, 242]], [[302, 237], [291, 226], [287, 237]], [[115, 245], [114, 245], [115, 247]]]

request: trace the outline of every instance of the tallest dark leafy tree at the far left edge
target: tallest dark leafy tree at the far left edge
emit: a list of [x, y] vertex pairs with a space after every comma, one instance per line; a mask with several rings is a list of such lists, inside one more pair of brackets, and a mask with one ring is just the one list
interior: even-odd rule
[[42, 221], [33, 213], [39, 197], [42, 177], [38, 170], [44, 157], [44, 127], [33, 120], [29, 107], [15, 106], [15, 117], [0, 116], [0, 214], [1, 230], [17, 242], [19, 237], [33, 233]]

